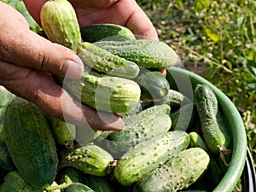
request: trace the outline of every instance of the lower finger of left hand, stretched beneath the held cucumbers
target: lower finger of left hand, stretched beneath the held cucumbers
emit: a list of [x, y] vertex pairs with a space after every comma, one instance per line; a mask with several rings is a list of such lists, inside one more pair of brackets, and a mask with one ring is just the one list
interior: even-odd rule
[[0, 61], [0, 84], [16, 96], [34, 102], [45, 113], [74, 125], [87, 126], [96, 130], [123, 130], [125, 124], [113, 113], [98, 113], [81, 105], [66, 90], [55, 84], [49, 73], [42, 73], [27, 67], [18, 67]]

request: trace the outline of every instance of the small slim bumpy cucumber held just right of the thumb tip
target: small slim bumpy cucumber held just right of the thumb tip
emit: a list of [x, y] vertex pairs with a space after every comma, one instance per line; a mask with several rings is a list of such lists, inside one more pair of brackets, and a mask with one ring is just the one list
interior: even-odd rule
[[139, 73], [136, 63], [113, 55], [95, 44], [83, 42], [78, 45], [77, 54], [84, 64], [108, 75], [133, 79]]

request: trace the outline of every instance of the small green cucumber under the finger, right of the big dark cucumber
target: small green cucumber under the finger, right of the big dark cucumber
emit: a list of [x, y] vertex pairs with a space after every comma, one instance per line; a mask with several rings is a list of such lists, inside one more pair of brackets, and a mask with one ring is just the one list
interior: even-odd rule
[[54, 134], [56, 143], [66, 148], [73, 148], [76, 136], [76, 126], [57, 119], [52, 115], [47, 116], [49, 127]]

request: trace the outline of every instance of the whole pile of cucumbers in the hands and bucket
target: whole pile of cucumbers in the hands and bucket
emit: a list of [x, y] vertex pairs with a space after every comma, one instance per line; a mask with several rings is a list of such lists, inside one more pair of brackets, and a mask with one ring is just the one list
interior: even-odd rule
[[176, 63], [171, 47], [137, 39], [124, 26], [79, 28], [67, 0], [45, 3], [41, 20], [50, 41], [84, 61], [81, 79], [56, 82], [84, 105], [119, 114], [125, 130], [68, 124], [1, 91], [9, 98], [0, 103], [1, 192], [212, 191], [218, 185], [230, 163], [230, 133], [210, 87], [197, 84], [189, 98], [157, 71]]

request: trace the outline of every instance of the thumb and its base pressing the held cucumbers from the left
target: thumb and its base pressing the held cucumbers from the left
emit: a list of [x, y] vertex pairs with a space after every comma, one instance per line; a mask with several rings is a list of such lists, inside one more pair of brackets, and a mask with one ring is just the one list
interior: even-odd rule
[[[7, 10], [3, 9], [3, 12]], [[4, 14], [3, 12], [0, 16]], [[53, 44], [30, 31], [28, 26], [19, 20], [23, 19], [22, 17], [8, 13], [6, 15], [8, 16], [0, 21], [0, 60], [54, 73], [58, 77], [64, 77], [67, 69], [70, 70], [67, 78], [79, 79], [82, 76], [83, 62], [72, 50], [60, 44]]]

